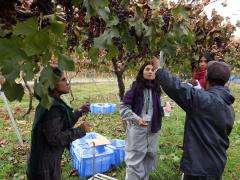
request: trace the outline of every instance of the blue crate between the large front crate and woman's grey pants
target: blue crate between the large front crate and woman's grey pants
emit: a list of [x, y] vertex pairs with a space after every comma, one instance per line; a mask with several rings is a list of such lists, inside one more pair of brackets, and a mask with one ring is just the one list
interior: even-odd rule
[[107, 145], [114, 151], [113, 166], [120, 166], [125, 159], [125, 141], [121, 139], [112, 139], [111, 144]]

